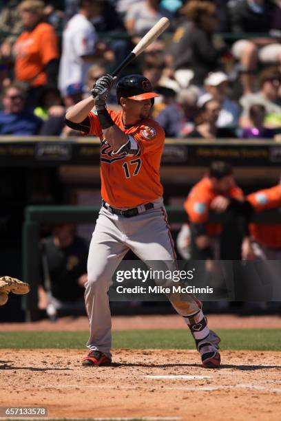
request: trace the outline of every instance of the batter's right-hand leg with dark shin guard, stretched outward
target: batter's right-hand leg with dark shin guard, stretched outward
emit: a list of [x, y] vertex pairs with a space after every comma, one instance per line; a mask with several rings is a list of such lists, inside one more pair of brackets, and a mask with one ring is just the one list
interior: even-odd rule
[[[154, 209], [134, 217], [132, 226], [129, 221], [127, 224], [129, 235], [127, 235], [126, 244], [141, 260], [149, 261], [149, 266], [155, 264], [156, 269], [159, 268], [161, 261], [165, 263], [171, 261], [171, 268], [176, 269], [174, 242], [163, 204], [156, 203]], [[169, 299], [176, 312], [183, 316], [194, 336], [203, 366], [218, 367], [220, 365], [218, 352], [220, 338], [209, 330], [207, 319], [202, 312], [202, 303], [192, 294], [185, 294], [184, 299], [172, 294]]]

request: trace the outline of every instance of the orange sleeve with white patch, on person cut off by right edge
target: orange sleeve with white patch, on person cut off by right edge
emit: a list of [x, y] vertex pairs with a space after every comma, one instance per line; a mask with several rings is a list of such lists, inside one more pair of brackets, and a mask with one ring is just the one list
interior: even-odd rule
[[256, 191], [247, 196], [256, 212], [281, 206], [281, 185]]

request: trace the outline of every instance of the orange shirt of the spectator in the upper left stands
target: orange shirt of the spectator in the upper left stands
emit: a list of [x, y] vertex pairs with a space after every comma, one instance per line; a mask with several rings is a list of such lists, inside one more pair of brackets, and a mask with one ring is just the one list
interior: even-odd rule
[[17, 80], [32, 86], [45, 85], [44, 67], [59, 58], [58, 40], [49, 23], [39, 23], [31, 32], [24, 31], [14, 45], [14, 74]]

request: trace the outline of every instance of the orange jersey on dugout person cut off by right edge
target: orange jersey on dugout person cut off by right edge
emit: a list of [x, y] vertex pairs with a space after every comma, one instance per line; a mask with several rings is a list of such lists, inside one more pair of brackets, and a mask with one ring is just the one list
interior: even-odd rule
[[[256, 212], [281, 207], [281, 184], [265, 188], [247, 196]], [[250, 224], [250, 233], [255, 241], [268, 248], [281, 249], [280, 224]]]

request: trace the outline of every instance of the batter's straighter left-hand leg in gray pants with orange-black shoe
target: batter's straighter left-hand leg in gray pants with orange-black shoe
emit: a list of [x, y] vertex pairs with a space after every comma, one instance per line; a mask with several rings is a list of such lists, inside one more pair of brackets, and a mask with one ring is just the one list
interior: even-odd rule
[[[105, 365], [111, 360], [112, 322], [107, 292], [112, 275], [128, 250], [122, 235], [118, 229], [118, 217], [102, 209], [92, 235], [87, 262], [85, 307], [90, 323], [87, 342], [90, 354], [83, 360], [83, 365]], [[96, 363], [98, 357], [101, 360]]]

